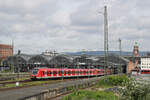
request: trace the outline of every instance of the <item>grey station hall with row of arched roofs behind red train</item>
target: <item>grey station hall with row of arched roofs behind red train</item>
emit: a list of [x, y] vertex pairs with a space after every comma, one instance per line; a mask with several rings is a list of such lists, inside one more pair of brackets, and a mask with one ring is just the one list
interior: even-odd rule
[[[122, 66], [122, 71], [127, 72], [128, 60], [117, 55], [108, 56], [108, 68]], [[104, 56], [87, 55], [14, 55], [3, 60], [3, 66], [13, 68], [15, 72], [30, 71], [35, 67], [49, 68], [104, 68]]]

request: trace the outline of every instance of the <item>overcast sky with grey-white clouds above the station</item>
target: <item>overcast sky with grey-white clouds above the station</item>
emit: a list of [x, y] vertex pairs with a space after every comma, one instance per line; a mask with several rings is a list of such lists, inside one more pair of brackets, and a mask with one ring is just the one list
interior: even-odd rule
[[0, 0], [0, 43], [15, 52], [103, 50], [104, 6], [109, 50], [150, 51], [150, 0]]

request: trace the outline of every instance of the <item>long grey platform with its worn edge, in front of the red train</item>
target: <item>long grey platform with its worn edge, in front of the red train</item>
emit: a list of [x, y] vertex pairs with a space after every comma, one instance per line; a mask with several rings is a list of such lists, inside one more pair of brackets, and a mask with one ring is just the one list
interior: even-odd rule
[[[45, 95], [47, 94], [47, 91], [49, 92], [47, 94], [48, 100], [50, 97], [56, 97], [56, 95], [59, 95], [59, 97], [63, 97], [65, 95], [68, 95], [69, 92], [73, 88], [82, 88], [82, 87], [89, 87], [92, 86], [93, 82], [99, 80], [101, 77], [95, 77], [95, 78], [86, 78], [86, 79], [64, 79], [63, 81], [59, 82], [57, 80], [54, 80], [54, 82], [51, 84], [44, 84], [44, 85], [36, 85], [36, 86], [28, 86], [28, 87], [17, 87], [15, 89], [7, 89], [6, 91], [0, 91], [0, 100], [32, 100], [32, 98], [45, 98]], [[57, 83], [56, 83], [57, 81]], [[73, 88], [72, 88], [73, 87]], [[43, 94], [44, 93], [44, 94]], [[46, 93], [46, 94], [45, 94]], [[71, 92], [70, 92], [71, 93]], [[9, 94], [9, 96], [8, 96]], [[52, 100], [59, 100], [57, 98], [51, 98]], [[58, 98], [59, 98], [58, 97]], [[31, 99], [30, 99], [31, 98]], [[51, 100], [50, 99], [50, 100]]]

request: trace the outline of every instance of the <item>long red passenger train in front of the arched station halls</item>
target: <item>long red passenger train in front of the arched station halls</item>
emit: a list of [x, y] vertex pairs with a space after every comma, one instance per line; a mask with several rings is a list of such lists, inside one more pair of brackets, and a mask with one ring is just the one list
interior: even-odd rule
[[[106, 74], [111, 74], [110, 69], [106, 69]], [[46, 78], [66, 78], [66, 77], [86, 77], [104, 75], [104, 69], [54, 69], [54, 68], [35, 68], [31, 72], [31, 79]]]

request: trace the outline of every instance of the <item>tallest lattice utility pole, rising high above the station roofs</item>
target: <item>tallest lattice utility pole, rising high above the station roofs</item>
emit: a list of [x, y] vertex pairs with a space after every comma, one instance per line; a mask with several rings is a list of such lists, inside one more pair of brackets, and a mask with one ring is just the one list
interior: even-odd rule
[[108, 67], [108, 20], [107, 20], [107, 6], [104, 6], [104, 75], [106, 74], [106, 67]]

